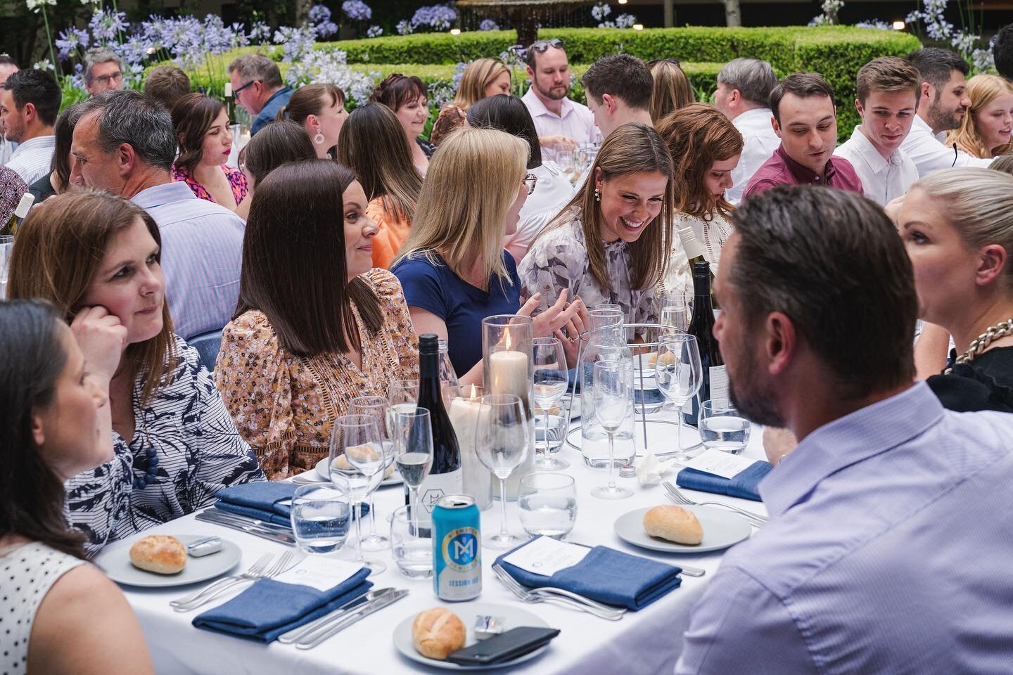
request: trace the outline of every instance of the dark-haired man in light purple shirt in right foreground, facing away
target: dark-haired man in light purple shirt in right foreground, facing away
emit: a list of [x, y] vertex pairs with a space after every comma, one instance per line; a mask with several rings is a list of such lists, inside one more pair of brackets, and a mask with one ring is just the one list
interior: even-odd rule
[[733, 219], [714, 328], [730, 394], [801, 442], [676, 672], [1010, 672], [1013, 415], [949, 412], [913, 383], [911, 264], [873, 202], [777, 187]]

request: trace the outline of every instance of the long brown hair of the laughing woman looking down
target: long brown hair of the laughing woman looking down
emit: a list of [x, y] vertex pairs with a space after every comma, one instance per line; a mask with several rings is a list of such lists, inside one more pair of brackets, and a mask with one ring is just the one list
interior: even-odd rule
[[669, 250], [672, 248], [672, 233], [667, 224], [672, 222], [673, 216], [672, 157], [665, 147], [665, 141], [650, 126], [634, 122], [623, 124], [609, 134], [598, 151], [580, 191], [573, 195], [541, 234], [580, 219], [591, 274], [598, 285], [612, 289], [605, 260], [605, 244], [602, 243], [602, 212], [595, 198], [595, 176], [599, 171], [606, 181], [651, 171], [657, 171], [669, 179], [661, 210], [653, 221], [644, 226], [639, 239], [629, 245], [633, 266], [630, 270], [630, 282], [637, 289], [649, 288], [665, 276]]

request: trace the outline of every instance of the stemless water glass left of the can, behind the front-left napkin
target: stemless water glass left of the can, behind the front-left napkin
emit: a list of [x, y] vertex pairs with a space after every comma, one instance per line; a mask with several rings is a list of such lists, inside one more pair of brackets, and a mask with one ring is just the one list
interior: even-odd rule
[[330, 486], [303, 485], [292, 497], [292, 531], [299, 550], [329, 554], [344, 545], [353, 501]]

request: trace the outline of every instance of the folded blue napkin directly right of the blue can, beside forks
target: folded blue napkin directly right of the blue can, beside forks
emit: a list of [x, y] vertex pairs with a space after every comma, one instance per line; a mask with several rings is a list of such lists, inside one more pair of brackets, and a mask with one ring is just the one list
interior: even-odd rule
[[[514, 551], [528, 543], [530, 541], [525, 541]], [[503, 559], [514, 551], [497, 558], [496, 564], [525, 586], [561, 588], [592, 600], [634, 611], [646, 607], [683, 583], [679, 576], [683, 571], [680, 567], [631, 556], [607, 546], [595, 546], [582, 561], [573, 567], [559, 570], [551, 577], [528, 572], [504, 562]]]

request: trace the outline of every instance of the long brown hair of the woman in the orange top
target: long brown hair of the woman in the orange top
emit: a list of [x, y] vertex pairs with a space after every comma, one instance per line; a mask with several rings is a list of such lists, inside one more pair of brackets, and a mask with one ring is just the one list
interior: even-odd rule
[[353, 110], [337, 137], [337, 161], [356, 172], [366, 198], [380, 197], [388, 217], [410, 224], [422, 177], [393, 110], [382, 103]]

